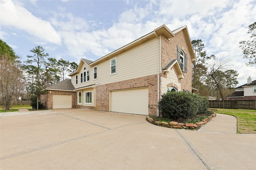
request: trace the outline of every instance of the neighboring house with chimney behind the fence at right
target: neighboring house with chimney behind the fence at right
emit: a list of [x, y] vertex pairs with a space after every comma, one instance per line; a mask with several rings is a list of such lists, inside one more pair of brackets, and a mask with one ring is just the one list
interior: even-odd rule
[[247, 83], [236, 87], [234, 93], [230, 94], [228, 100], [256, 100], [256, 80], [247, 79]]

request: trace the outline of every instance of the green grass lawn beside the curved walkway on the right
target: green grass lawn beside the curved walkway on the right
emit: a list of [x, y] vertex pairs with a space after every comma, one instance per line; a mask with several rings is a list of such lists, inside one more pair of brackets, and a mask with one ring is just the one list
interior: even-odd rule
[[256, 133], [256, 110], [216, 109], [215, 113], [232, 115], [237, 119], [237, 133]]

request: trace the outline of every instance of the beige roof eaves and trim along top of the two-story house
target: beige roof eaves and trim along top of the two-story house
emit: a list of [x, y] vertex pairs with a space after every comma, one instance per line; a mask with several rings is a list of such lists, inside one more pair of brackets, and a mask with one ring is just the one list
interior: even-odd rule
[[[103, 59], [108, 59], [110, 57], [114, 57], [116, 55], [119, 55], [120, 53], [122, 53], [124, 51], [127, 51], [127, 50], [131, 49], [132, 47], [136, 47], [137, 45], [139, 45], [139, 44], [141, 44], [145, 41], [148, 41], [152, 38], [156, 38], [156, 37], [158, 38], [158, 36], [163, 35], [166, 38], [170, 39], [172, 37], [175, 37], [175, 34], [182, 31], [182, 30], [185, 34], [185, 38], [186, 38], [187, 42], [189, 42], [188, 43], [188, 48], [189, 48], [189, 51], [190, 51], [190, 55], [192, 57], [192, 61], [196, 61], [196, 57], [195, 57], [195, 54], [194, 54], [194, 51], [193, 51], [193, 48], [192, 48], [190, 36], [188, 34], [187, 26], [183, 26], [181, 28], [178, 28], [174, 32], [172, 32], [172, 31], [169, 30], [169, 28], [166, 25], [162, 25], [162, 26], [156, 28], [153, 32], [150, 32], [149, 34], [146, 34], [145, 36], [142, 36], [141, 38], [138, 38], [137, 40], [135, 40], [131, 43], [128, 43], [127, 45], [124, 45], [123, 47], [121, 47], [119, 49], [116, 49], [115, 51], [101, 57], [100, 59], [97, 59], [96, 61], [90, 61], [90, 60], [86, 60], [86, 59], [81, 59], [81, 61], [84, 61], [87, 65], [90, 65], [90, 66], [97, 65]], [[81, 61], [80, 61], [80, 63], [81, 63]], [[78, 69], [74, 73], [71, 73], [69, 76], [72, 76], [72, 75], [76, 74], [81, 69], [80, 67], [82, 67], [82, 66], [80, 66], [80, 63], [78, 65]]]

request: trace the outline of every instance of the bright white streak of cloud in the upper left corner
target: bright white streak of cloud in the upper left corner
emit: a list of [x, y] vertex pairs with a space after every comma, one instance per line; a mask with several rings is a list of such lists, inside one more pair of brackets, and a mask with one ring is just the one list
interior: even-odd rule
[[[8, 16], [8, 17], [7, 17]], [[1, 27], [16, 28], [32, 35], [36, 40], [61, 44], [60, 35], [51, 24], [41, 18], [36, 18], [21, 6], [12, 1], [1, 1]]]

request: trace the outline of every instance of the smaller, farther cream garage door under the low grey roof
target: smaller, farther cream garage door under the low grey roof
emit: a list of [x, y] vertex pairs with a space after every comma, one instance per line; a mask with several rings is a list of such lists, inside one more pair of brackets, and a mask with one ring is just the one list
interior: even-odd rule
[[72, 95], [52, 95], [52, 109], [72, 108]]

